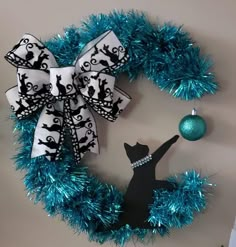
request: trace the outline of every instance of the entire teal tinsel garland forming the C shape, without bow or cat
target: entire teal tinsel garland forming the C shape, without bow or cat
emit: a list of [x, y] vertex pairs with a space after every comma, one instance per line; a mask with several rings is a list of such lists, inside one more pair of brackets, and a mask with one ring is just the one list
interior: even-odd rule
[[[171, 25], [152, 25], [145, 15], [136, 12], [92, 15], [81, 28], [70, 27], [64, 36], [58, 35], [46, 45], [60, 66], [71, 65], [88, 41], [108, 29], [113, 29], [129, 48], [130, 61], [119, 73], [126, 71], [130, 79], [135, 79], [143, 72], [161, 89], [185, 100], [215, 93], [217, 84], [208, 72], [210, 62], [193, 47], [189, 35]], [[162, 227], [151, 231], [126, 225], [118, 231], [97, 233], [99, 225], [109, 226], [118, 220], [123, 194], [89, 174], [86, 166], [74, 163], [69, 145], [63, 147], [61, 161], [50, 162], [43, 156], [31, 159], [38, 115], [14, 120], [22, 145], [15, 157], [16, 165], [26, 170], [28, 195], [35, 203], [41, 201], [49, 215], [61, 215], [76, 232], [87, 232], [90, 240], [112, 240], [123, 246], [133, 235], [141, 241], [147, 235], [164, 236], [170, 228], [190, 224], [194, 213], [206, 207], [206, 188], [211, 184], [196, 171], [188, 171], [169, 178], [177, 183], [174, 192], [154, 191], [149, 222]]]

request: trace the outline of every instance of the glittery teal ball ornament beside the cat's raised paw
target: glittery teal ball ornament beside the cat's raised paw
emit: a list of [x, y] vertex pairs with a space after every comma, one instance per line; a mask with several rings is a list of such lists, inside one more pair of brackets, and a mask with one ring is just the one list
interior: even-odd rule
[[201, 139], [206, 134], [206, 130], [206, 121], [199, 115], [196, 115], [195, 109], [192, 115], [189, 114], [183, 117], [179, 123], [179, 132], [188, 141]]

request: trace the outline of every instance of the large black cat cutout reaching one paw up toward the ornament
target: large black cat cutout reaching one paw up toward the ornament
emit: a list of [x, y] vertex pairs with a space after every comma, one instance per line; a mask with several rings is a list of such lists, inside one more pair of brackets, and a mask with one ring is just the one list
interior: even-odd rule
[[[116, 230], [128, 224], [131, 228], [153, 229], [148, 223], [149, 206], [153, 203], [153, 191], [157, 189], [174, 190], [175, 184], [165, 180], [156, 180], [155, 168], [160, 159], [168, 151], [172, 144], [178, 140], [175, 135], [170, 140], [162, 144], [152, 154], [152, 159], [147, 163], [133, 169], [134, 174], [124, 195], [122, 213], [118, 223], [109, 230]], [[124, 144], [126, 154], [131, 162], [134, 163], [148, 155], [147, 145], [137, 143], [134, 146]], [[164, 226], [160, 226], [164, 227]]]

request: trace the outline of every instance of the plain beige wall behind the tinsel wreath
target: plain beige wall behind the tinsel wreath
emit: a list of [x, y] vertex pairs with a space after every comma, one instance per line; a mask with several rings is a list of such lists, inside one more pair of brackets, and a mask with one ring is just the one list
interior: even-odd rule
[[[188, 168], [213, 174], [218, 184], [208, 210], [194, 224], [175, 230], [170, 237], [157, 238], [160, 247], [227, 246], [236, 215], [236, 1], [235, 0], [100, 0], [100, 1], [12, 1], [0, 3], [0, 57], [23, 33], [47, 39], [61, 33], [70, 24], [91, 13], [108, 13], [112, 9], [138, 9], [153, 20], [184, 24], [204, 52], [212, 54], [221, 90], [215, 97], [204, 97], [196, 106], [208, 121], [206, 138], [198, 142], [183, 139], [166, 155], [157, 168], [159, 178]], [[47, 217], [42, 206], [27, 200], [23, 174], [15, 172], [10, 159], [15, 153], [9, 109], [4, 91], [15, 84], [15, 70], [0, 60], [0, 246], [1, 247], [76, 247], [97, 246], [84, 234], [77, 236], [66, 224]], [[115, 124], [99, 120], [101, 155], [88, 161], [94, 173], [119, 186], [127, 185], [131, 169], [123, 142], [145, 142], [153, 150], [177, 133], [179, 120], [193, 104], [175, 100], [142, 78], [120, 86], [133, 101]], [[105, 127], [102, 130], [102, 125]], [[109, 246], [106, 244], [104, 246]], [[132, 246], [132, 243], [130, 244]]]

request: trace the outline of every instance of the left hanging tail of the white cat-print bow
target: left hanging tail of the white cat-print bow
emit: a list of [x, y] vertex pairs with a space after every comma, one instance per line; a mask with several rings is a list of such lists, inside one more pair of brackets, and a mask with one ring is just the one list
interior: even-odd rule
[[47, 104], [43, 108], [35, 129], [32, 158], [45, 155], [50, 161], [58, 160], [64, 141], [63, 115], [63, 101]]

